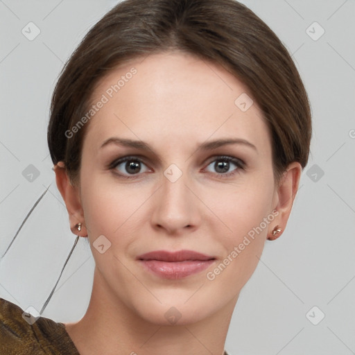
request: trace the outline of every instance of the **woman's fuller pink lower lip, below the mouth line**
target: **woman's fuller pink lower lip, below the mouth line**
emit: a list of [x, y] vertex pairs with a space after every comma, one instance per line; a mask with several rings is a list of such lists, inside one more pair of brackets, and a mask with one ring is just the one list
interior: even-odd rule
[[164, 279], [182, 279], [207, 269], [215, 260], [159, 261], [139, 260], [146, 269]]

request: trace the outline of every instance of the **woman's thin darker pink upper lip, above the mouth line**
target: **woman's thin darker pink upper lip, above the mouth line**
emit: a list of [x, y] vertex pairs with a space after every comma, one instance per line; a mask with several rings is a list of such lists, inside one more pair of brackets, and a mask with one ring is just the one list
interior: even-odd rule
[[147, 252], [137, 257], [139, 260], [159, 260], [159, 261], [184, 261], [184, 260], [212, 260], [216, 259], [209, 255], [193, 250], [179, 250], [178, 252], [168, 252], [166, 250], [155, 250], [154, 252]]

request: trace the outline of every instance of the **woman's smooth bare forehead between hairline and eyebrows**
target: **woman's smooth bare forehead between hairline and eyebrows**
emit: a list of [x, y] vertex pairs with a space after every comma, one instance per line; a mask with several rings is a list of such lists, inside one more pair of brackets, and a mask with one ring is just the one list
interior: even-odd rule
[[92, 105], [99, 101], [105, 103], [85, 137], [96, 149], [114, 135], [175, 145], [235, 136], [270, 148], [248, 87], [218, 64], [186, 53], [148, 55], [113, 69], [94, 90]]

